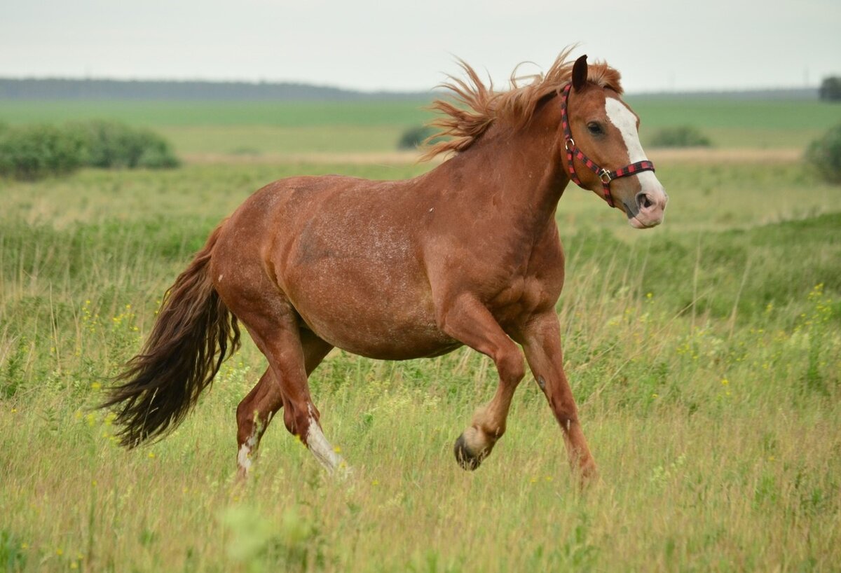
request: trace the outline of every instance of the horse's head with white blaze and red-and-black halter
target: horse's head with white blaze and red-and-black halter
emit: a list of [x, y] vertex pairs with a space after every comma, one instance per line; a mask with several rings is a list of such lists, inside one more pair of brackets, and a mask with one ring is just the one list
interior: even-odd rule
[[639, 143], [639, 118], [610, 87], [587, 81], [587, 56], [575, 60], [563, 91], [564, 166], [572, 181], [646, 229], [663, 222], [669, 202]]

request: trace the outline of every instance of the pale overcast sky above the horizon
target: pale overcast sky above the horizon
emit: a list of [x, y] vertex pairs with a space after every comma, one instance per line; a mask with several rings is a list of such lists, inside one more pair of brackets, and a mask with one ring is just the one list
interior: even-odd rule
[[454, 57], [497, 87], [565, 45], [628, 92], [802, 87], [841, 75], [839, 0], [0, 0], [0, 76], [431, 89]]

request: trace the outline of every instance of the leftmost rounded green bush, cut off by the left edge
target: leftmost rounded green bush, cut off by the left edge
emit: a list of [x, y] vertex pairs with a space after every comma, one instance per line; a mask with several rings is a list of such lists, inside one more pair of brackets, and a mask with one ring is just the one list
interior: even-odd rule
[[82, 166], [84, 141], [52, 125], [0, 132], [0, 175], [33, 180], [65, 175]]

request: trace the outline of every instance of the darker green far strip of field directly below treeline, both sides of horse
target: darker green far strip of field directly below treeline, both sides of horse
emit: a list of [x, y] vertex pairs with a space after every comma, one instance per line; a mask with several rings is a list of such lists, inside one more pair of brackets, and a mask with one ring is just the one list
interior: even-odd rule
[[[629, 96], [627, 102], [643, 125], [696, 124], [701, 128], [824, 129], [841, 121], [841, 109], [825, 102], [659, 98]], [[407, 102], [178, 102], [178, 101], [38, 101], [3, 100], [0, 121], [8, 124], [61, 122], [87, 118], [127, 124], [164, 126], [412, 125], [431, 113], [430, 101]]]

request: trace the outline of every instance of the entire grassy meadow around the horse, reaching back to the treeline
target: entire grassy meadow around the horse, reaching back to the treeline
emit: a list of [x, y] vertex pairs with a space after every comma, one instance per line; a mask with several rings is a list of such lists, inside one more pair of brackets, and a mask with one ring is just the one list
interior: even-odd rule
[[188, 162], [0, 181], [0, 566], [838, 570], [841, 190], [797, 157], [841, 110], [632, 104], [643, 139], [692, 118], [721, 153], [651, 151], [671, 197], [658, 229], [630, 229], [576, 187], [560, 202], [564, 359], [600, 467], [581, 491], [529, 376], [494, 454], [458, 467], [452, 442], [496, 386], [467, 349], [320, 365], [310, 383], [356, 470], [346, 481], [275, 423], [235, 486], [235, 407], [265, 368], [250, 340], [161, 442], [121, 449], [111, 414], [91, 409], [167, 286], [257, 187], [431, 168], [392, 153], [426, 117], [417, 106], [2, 103], [7, 123], [133, 120]]

